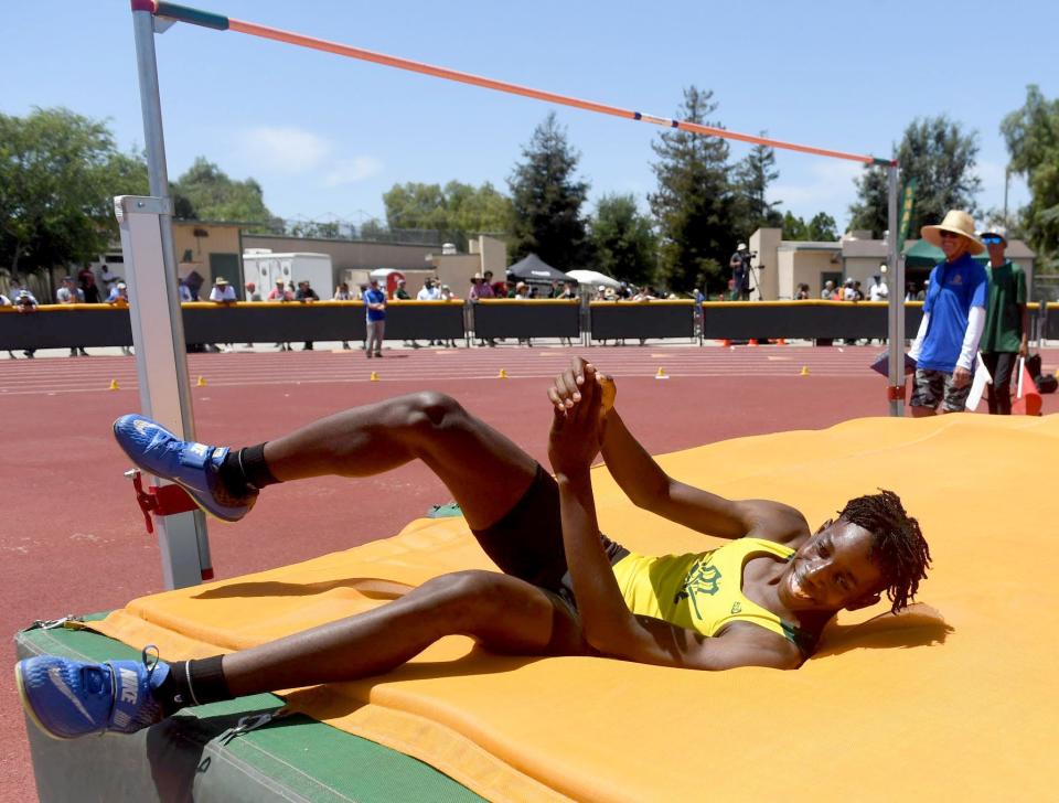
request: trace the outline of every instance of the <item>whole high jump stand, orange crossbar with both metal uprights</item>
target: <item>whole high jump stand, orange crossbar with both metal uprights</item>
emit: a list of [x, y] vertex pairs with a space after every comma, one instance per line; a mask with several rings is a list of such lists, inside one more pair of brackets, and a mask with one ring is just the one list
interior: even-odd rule
[[[901, 303], [901, 288], [905, 285], [905, 271], [903, 261], [898, 259], [896, 245], [898, 171], [896, 160], [878, 159], [859, 153], [847, 153], [768, 137], [739, 133], [738, 131], [705, 126], [691, 120], [645, 115], [617, 106], [581, 100], [338, 42], [329, 42], [291, 31], [234, 20], [211, 11], [163, 2], [162, 0], [130, 0], [130, 2], [150, 196], [116, 197], [115, 211], [120, 223], [121, 247], [125, 253], [126, 272], [129, 280], [132, 343], [136, 346], [140, 405], [146, 415], [158, 419], [173, 431], [181, 432], [184, 439], [194, 440], [195, 425], [191, 388], [188, 381], [188, 357], [184, 349], [183, 321], [178, 292], [176, 255], [172, 235], [172, 202], [169, 196], [161, 97], [158, 87], [158, 60], [154, 51], [154, 34], [164, 32], [173, 22], [185, 22], [218, 31], [237, 31], [252, 36], [373, 62], [396, 69], [430, 75], [445, 81], [510, 95], [520, 95], [611, 117], [650, 122], [691, 133], [720, 137], [751, 144], [763, 144], [782, 150], [885, 168], [888, 173], [888, 220], [891, 233], [887, 263], [895, 288], [895, 291], [890, 293], [888, 326], [890, 374], [887, 396], [890, 415], [902, 415], [905, 376], [901, 354], [905, 339], [905, 306]], [[159, 266], [161, 266], [161, 270], [158, 270]], [[168, 522], [163, 520], [158, 522], [165, 586], [168, 588], [190, 586], [212, 577], [213, 567], [203, 515], [197, 512], [182, 513], [169, 516], [168, 520]]]

